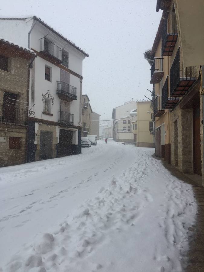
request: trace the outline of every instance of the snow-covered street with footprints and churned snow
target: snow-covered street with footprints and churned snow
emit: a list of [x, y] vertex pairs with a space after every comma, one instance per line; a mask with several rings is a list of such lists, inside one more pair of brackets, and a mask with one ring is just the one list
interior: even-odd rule
[[0, 271], [182, 271], [196, 202], [153, 153], [101, 140], [1, 168]]

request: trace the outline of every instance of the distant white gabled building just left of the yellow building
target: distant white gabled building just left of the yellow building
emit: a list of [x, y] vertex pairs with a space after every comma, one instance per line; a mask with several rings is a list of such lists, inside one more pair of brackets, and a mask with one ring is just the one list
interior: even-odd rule
[[117, 142], [133, 142], [132, 121], [137, 118], [137, 102], [133, 99], [113, 108], [113, 139]]

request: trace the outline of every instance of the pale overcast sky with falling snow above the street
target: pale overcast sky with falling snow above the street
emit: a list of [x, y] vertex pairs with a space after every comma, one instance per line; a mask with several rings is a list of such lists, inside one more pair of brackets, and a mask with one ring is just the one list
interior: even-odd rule
[[152, 47], [161, 18], [156, 2], [8, 0], [1, 3], [0, 17], [36, 15], [89, 53], [83, 61], [83, 94], [103, 120], [131, 98], [151, 97], [146, 91], [152, 88], [150, 65], [143, 53]]

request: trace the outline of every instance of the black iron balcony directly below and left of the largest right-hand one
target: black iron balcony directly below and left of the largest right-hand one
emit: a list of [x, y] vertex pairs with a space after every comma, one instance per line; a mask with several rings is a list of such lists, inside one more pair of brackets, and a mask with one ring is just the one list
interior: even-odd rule
[[167, 76], [162, 88], [162, 108], [173, 109], [178, 102], [179, 97], [170, 97], [170, 76]]

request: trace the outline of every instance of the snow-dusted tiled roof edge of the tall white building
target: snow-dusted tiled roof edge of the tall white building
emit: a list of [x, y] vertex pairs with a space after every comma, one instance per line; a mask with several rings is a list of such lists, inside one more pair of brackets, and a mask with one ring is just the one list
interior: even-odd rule
[[76, 48], [77, 50], [79, 50], [81, 53], [83, 53], [86, 57], [89, 57], [89, 54], [86, 53], [84, 50], [82, 50], [80, 47], [76, 46], [75, 43], [73, 43], [71, 40], [65, 38], [62, 34], [60, 34], [59, 32], [57, 32], [56, 30], [54, 30], [50, 25], [48, 25], [47, 23], [45, 23], [43, 20], [41, 20], [39, 17], [37, 16], [31, 16], [31, 17], [26, 17], [26, 18], [0, 18], [3, 20], [27, 20], [27, 19], [33, 19], [38, 21], [40, 24], [44, 25], [46, 28], [50, 29], [53, 33], [55, 33], [56, 35], [58, 35], [61, 39], [65, 40], [68, 44], [72, 45], [74, 48]]

